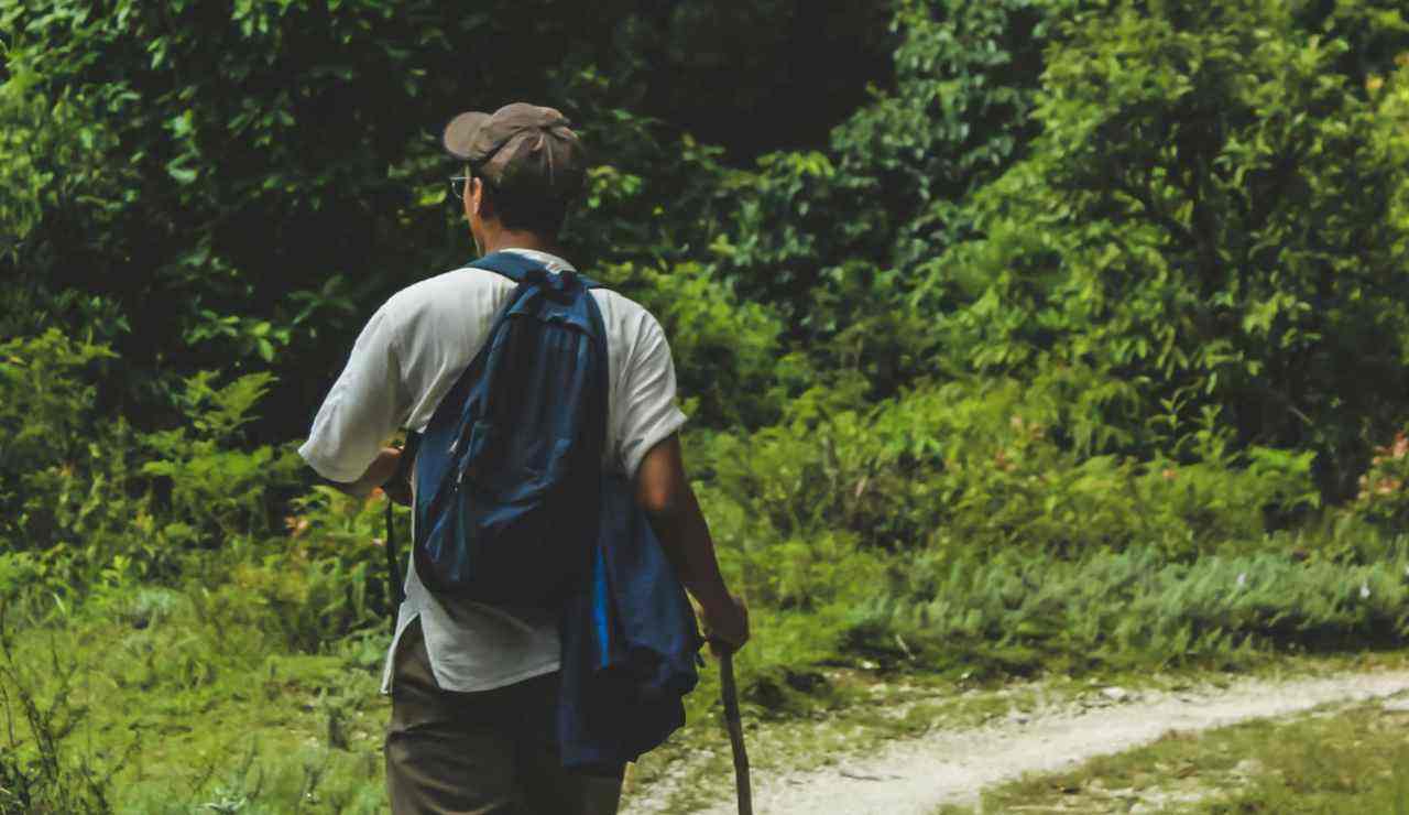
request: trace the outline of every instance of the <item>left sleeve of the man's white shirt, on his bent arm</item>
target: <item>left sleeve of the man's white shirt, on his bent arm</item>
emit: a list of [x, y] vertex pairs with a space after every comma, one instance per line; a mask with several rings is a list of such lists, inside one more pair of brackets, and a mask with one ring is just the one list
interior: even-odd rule
[[299, 455], [330, 481], [356, 481], [409, 410], [410, 398], [397, 361], [396, 320], [387, 303], [358, 336]]

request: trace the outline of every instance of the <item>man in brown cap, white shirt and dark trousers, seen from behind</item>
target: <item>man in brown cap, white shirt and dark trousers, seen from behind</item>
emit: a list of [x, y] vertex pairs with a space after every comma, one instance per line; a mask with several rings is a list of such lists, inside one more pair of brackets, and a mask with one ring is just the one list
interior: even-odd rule
[[[442, 144], [466, 166], [452, 189], [479, 254], [513, 251], [554, 274], [573, 269], [557, 241], [586, 155], [561, 113], [524, 103], [462, 113]], [[303, 458], [352, 495], [386, 484], [400, 464], [386, 439], [397, 427], [426, 427], [513, 288], [489, 271], [457, 269], [396, 293], [358, 337], [299, 450]], [[603, 289], [590, 296], [607, 345], [603, 468], [633, 479], [714, 647], [738, 649], [748, 640], [748, 616], [724, 585], [685, 475], [676, 436], [685, 416], [675, 406], [669, 345], [640, 305]], [[392, 695], [392, 809], [614, 812], [623, 767], [568, 773], [541, 739], [527, 736], [552, 721], [558, 663], [554, 612], [435, 596], [413, 561], [382, 682]]]

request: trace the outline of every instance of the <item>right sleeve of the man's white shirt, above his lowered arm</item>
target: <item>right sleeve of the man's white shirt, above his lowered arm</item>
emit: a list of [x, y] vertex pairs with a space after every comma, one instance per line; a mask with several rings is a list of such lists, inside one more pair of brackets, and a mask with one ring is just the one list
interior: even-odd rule
[[644, 314], [621, 379], [617, 419], [617, 461], [627, 478], [641, 460], [685, 424], [675, 405], [675, 362], [661, 324]]

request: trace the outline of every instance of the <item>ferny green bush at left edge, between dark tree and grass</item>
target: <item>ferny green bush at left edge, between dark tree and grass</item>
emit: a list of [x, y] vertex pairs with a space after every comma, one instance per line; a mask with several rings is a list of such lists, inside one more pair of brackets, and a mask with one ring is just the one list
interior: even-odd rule
[[[300, 474], [290, 446], [248, 446], [268, 374], [178, 395], [182, 426], [134, 433], [103, 416], [103, 345], [58, 330], [0, 344], [0, 596], [59, 596], [132, 578], [173, 580], [200, 549], [282, 529]], [[31, 591], [32, 589], [32, 591]]]

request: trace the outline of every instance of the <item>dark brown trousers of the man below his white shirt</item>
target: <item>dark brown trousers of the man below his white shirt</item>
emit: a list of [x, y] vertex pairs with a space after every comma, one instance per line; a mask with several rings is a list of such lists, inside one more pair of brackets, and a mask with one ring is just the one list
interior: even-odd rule
[[612, 815], [621, 768], [569, 773], [547, 744], [558, 674], [459, 694], [431, 674], [420, 620], [397, 643], [386, 787], [396, 815]]

